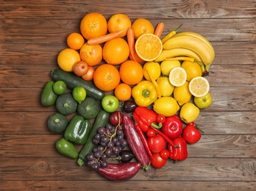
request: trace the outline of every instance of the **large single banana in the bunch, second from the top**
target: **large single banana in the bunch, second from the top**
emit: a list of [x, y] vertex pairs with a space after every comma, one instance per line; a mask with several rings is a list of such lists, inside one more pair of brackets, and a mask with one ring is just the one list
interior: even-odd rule
[[163, 43], [163, 49], [172, 48], [187, 48], [194, 51], [199, 55], [199, 57], [201, 57], [205, 65], [210, 65], [215, 56], [205, 41], [202, 41], [198, 37], [194, 36], [175, 35], [174, 37], [166, 40], [166, 43]]

